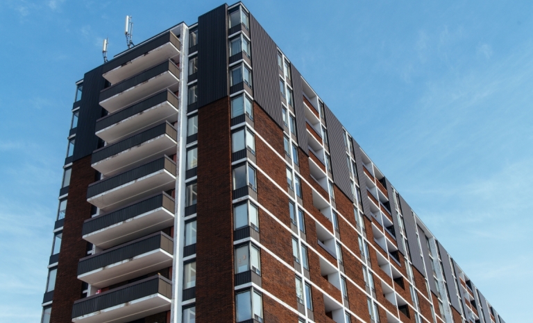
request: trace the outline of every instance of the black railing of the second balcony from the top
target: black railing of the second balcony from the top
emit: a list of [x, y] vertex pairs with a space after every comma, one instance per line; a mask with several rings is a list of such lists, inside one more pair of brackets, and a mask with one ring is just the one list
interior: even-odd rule
[[124, 92], [126, 91], [126, 89], [135, 87], [135, 85], [139, 85], [142, 82], [146, 82], [147, 80], [150, 80], [151, 78], [154, 78], [155, 76], [158, 76], [167, 71], [176, 76], [176, 78], [180, 78], [180, 68], [177, 67], [176, 64], [174, 64], [174, 62], [172, 62], [171, 60], [167, 60], [158, 65], [155, 65], [154, 67], [145, 69], [144, 71], [137, 73], [136, 75], [127, 78], [126, 80], [118, 82], [117, 84], [112, 85], [111, 87], [103, 89], [100, 92], [100, 102], [107, 100], [108, 98], [115, 96], [121, 92]]

